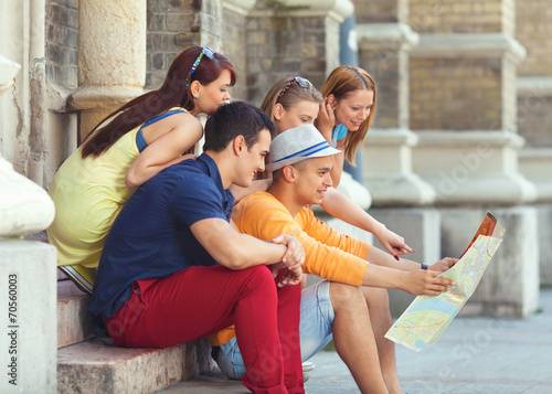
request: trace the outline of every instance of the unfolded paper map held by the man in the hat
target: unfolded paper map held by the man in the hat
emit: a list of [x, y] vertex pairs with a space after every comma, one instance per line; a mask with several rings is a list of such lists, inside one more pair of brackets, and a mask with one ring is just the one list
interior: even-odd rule
[[464, 304], [471, 297], [487, 265], [497, 252], [505, 228], [487, 213], [463, 256], [439, 275], [455, 283], [438, 296], [418, 296], [388, 331], [385, 338], [421, 351], [435, 343]]

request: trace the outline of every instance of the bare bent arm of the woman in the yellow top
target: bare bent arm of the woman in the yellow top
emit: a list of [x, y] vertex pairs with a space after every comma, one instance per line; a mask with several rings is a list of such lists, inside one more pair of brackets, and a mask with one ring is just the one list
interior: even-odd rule
[[152, 142], [128, 169], [125, 175], [128, 188], [139, 187], [162, 169], [188, 159], [181, 155], [192, 148], [203, 134], [201, 123], [190, 114], [171, 115], [144, 130]]

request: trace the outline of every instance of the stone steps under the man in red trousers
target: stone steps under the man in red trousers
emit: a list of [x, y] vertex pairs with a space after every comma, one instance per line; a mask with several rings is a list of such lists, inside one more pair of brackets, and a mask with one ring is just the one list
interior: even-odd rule
[[[168, 349], [105, 344], [87, 324], [88, 304], [89, 296], [70, 280], [57, 281], [57, 393], [153, 393], [214, 369], [205, 340]], [[203, 392], [197, 384], [177, 387]]]

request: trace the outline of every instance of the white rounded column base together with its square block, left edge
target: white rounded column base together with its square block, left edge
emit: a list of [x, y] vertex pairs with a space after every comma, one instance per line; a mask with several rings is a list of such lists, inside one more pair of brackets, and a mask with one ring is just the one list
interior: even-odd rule
[[[0, 55], [0, 94], [20, 65]], [[3, 111], [1, 117], [6, 115]], [[56, 392], [56, 251], [19, 237], [43, 230], [54, 203], [0, 157], [0, 363], [2, 393]]]

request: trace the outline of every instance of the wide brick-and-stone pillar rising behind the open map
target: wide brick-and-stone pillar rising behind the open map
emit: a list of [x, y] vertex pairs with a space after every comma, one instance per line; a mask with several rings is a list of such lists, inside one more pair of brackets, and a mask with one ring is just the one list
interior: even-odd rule
[[[500, 254], [481, 289], [500, 288], [510, 300], [481, 292], [477, 312], [527, 316], [538, 307], [537, 189], [518, 170], [524, 140], [517, 134], [517, 67], [526, 49], [513, 38], [514, 1], [410, 0], [410, 24], [420, 43], [410, 57], [410, 126], [420, 138], [413, 168], [437, 192], [443, 254], [456, 256], [486, 210], [505, 223]], [[467, 232], [469, 235], [460, 236]], [[513, 242], [518, 247], [510, 248]], [[508, 267], [517, 275], [498, 275]], [[481, 290], [484, 291], [484, 290]], [[498, 292], [497, 292], [498, 294]]]

